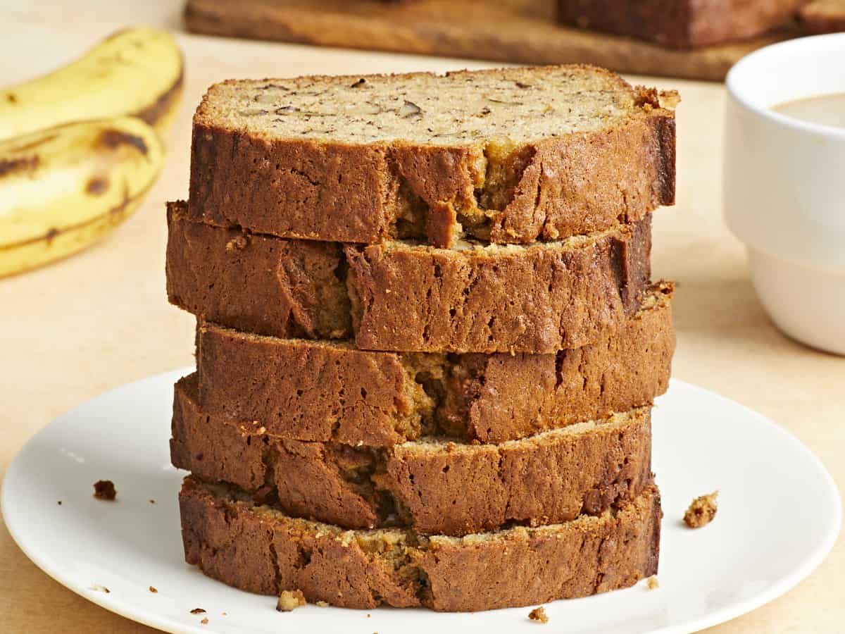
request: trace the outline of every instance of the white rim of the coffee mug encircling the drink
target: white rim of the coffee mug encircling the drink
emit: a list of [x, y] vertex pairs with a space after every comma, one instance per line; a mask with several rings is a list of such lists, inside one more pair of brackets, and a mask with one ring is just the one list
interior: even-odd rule
[[[740, 106], [750, 112], [753, 112], [756, 116], [766, 119], [770, 123], [775, 123], [787, 128], [793, 128], [799, 132], [820, 134], [834, 139], [845, 139], [845, 128], [838, 128], [837, 126], [826, 125], [824, 123], [813, 123], [805, 121], [804, 119], [781, 114], [780, 112], [772, 110], [771, 107], [761, 107], [755, 103], [753, 97], [750, 96], [750, 91], [748, 90], [747, 85], [742, 84], [738, 79], [742, 73], [747, 72], [745, 70], [747, 66], [753, 63], [759, 63], [761, 58], [771, 55], [772, 52], [780, 52], [782, 49], [787, 48], [802, 48], [804, 50], [809, 48], [810, 50], [815, 49], [823, 51], [829, 46], [836, 47], [837, 44], [842, 47], [842, 54], [845, 56], [845, 32], [828, 33], [821, 36], [797, 37], [793, 40], [786, 40], [770, 44], [769, 46], [763, 46], [762, 48], [749, 53], [740, 59], [739, 62], [733, 64], [733, 67], [731, 67], [728, 71], [728, 76], [725, 78], [725, 87], [728, 90], [728, 95], [734, 101], [739, 103]], [[845, 90], [843, 90], [843, 92], [845, 92]], [[804, 97], [799, 96], [795, 97], [795, 99], [806, 99], [810, 97], [812, 97], [812, 95]]]

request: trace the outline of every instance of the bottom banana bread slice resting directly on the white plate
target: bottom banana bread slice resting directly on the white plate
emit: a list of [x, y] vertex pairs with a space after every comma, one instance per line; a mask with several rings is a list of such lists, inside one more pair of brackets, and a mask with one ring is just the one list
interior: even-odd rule
[[462, 538], [346, 531], [259, 506], [240, 489], [185, 478], [185, 560], [248, 592], [300, 590], [344, 608], [441, 611], [542, 604], [626, 588], [657, 573], [660, 494], [571, 522]]

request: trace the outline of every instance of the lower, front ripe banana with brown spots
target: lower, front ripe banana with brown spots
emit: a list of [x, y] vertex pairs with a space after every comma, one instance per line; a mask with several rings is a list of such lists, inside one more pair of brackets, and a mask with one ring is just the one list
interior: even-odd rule
[[139, 118], [0, 140], [0, 277], [85, 249], [132, 214], [164, 163]]

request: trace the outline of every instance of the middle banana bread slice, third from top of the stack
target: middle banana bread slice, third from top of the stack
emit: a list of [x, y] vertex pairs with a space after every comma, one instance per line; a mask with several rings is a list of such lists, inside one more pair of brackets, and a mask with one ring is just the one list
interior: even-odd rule
[[666, 390], [671, 290], [653, 288], [595, 344], [555, 354], [379, 353], [200, 324], [199, 403], [288, 440], [373, 446], [421, 435], [496, 443], [605, 418]]

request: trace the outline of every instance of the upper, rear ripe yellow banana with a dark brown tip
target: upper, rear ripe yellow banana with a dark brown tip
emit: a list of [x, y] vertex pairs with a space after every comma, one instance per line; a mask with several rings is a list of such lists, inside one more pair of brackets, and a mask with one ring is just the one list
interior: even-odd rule
[[67, 66], [0, 90], [0, 139], [121, 115], [144, 119], [161, 134], [182, 80], [182, 53], [169, 33], [118, 31]]

